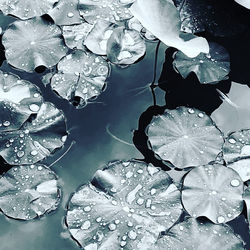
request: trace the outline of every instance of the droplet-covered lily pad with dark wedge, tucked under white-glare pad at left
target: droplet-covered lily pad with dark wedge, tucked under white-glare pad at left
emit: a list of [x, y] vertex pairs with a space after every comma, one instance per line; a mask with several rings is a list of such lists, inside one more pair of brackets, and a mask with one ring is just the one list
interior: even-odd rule
[[34, 164], [61, 148], [66, 138], [62, 111], [43, 103], [36, 117], [19, 130], [0, 133], [0, 155], [11, 165]]

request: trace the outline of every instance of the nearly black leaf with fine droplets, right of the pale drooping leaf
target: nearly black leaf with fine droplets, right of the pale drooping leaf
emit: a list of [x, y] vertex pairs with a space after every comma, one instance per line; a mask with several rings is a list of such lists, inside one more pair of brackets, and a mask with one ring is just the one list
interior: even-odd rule
[[180, 8], [182, 30], [191, 33], [208, 31], [215, 36], [231, 36], [249, 24], [247, 12], [228, 0], [174, 0]]

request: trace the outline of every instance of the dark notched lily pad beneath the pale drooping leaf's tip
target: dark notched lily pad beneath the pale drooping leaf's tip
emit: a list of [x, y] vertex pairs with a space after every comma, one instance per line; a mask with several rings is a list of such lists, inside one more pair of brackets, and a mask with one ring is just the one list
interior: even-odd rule
[[191, 59], [179, 51], [173, 65], [183, 78], [194, 72], [200, 83], [217, 83], [228, 78], [230, 57], [225, 48], [209, 43], [209, 54], [200, 53]]

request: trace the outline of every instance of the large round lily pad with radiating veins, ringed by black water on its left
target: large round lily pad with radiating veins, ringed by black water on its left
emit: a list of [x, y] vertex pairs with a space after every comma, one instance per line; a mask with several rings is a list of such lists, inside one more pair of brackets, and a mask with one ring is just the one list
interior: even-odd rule
[[162, 160], [186, 168], [214, 161], [222, 151], [222, 133], [204, 112], [179, 107], [165, 110], [147, 128], [149, 146]]

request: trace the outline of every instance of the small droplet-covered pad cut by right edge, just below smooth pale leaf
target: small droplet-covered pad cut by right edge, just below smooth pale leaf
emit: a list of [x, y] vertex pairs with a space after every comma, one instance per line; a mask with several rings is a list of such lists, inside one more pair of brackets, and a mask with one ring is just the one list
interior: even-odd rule
[[223, 146], [223, 155], [227, 164], [250, 158], [250, 129], [229, 134]]

